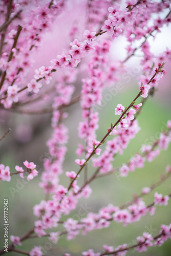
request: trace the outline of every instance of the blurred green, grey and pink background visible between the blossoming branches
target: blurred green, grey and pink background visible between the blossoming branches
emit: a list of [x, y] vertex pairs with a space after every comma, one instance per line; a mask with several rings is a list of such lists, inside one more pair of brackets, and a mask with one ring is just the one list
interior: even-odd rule
[[[53, 29], [46, 33], [42, 39], [42, 47], [36, 53], [36, 61], [32, 69], [28, 74], [28, 81], [32, 78], [34, 70], [42, 65], [49, 65], [50, 59], [54, 58], [62, 50], [69, 45], [68, 34], [71, 30], [71, 24], [79, 20], [80, 28], [83, 26], [85, 13], [80, 20], [79, 10], [81, 4], [78, 1], [74, 1], [71, 8], [71, 12], [68, 14], [63, 13], [58, 18], [59, 27], [54, 26]], [[74, 11], [74, 17], [72, 14]], [[64, 20], [64, 22], [63, 22]], [[72, 20], [72, 23], [71, 23]], [[61, 32], [63, 31], [63, 32]], [[78, 33], [78, 37], [81, 38], [81, 32]], [[151, 40], [151, 47], [156, 55], [162, 53], [166, 46], [170, 45], [171, 32], [170, 27], [164, 27], [162, 32], [154, 39]], [[60, 33], [60, 41], [58, 35]], [[77, 38], [78, 38], [77, 37]], [[79, 39], [79, 38], [78, 38]], [[114, 41], [111, 48], [111, 56], [115, 59], [124, 59], [126, 51], [126, 42], [124, 38], [118, 38]], [[116, 50], [117, 49], [117, 50]], [[46, 54], [45, 54], [46, 52]], [[139, 65], [138, 57], [134, 57], [131, 61], [127, 62], [129, 69], [132, 69], [133, 65]], [[167, 120], [171, 119], [170, 114], [170, 63], [166, 63], [165, 69], [167, 74], [161, 79], [158, 86], [158, 92], [154, 97], [148, 99], [145, 103], [141, 115], [138, 116], [138, 122], [141, 127], [141, 131], [136, 135], [136, 138], [132, 140], [129, 146], [124, 151], [124, 154], [117, 156], [113, 162], [113, 166], [120, 166], [122, 163], [130, 160], [145, 141], [148, 144], [153, 143], [156, 139], [159, 139], [159, 134], [166, 127]], [[104, 100], [104, 106], [99, 110], [99, 129], [97, 131], [97, 140], [100, 140], [106, 133], [107, 128], [111, 122], [114, 123], [117, 117], [114, 114], [114, 109], [118, 103], [124, 106], [129, 105], [132, 99], [137, 95], [138, 81], [137, 76], [132, 77], [129, 83], [125, 83], [121, 78], [119, 81], [123, 83], [123, 89], [119, 90], [116, 96], [113, 96], [110, 101]], [[81, 90], [81, 78], [77, 83], [77, 93]], [[106, 94], [109, 94], [108, 89], [103, 93], [103, 99]], [[76, 95], [76, 93], [74, 94]], [[60, 184], [68, 185], [65, 172], [74, 170], [77, 172], [78, 166], [74, 163], [77, 158], [75, 150], [80, 139], [77, 135], [78, 122], [81, 120], [81, 109], [79, 102], [66, 109], [69, 113], [68, 118], [65, 120], [67, 127], [70, 127], [70, 139], [68, 143], [68, 152], [66, 155], [65, 164], [63, 166], [64, 174], [60, 176]], [[45, 199], [44, 191], [38, 186], [40, 181], [40, 175], [43, 171], [43, 159], [48, 154], [48, 148], [46, 146], [47, 140], [52, 133], [51, 128], [51, 113], [49, 114], [37, 114], [37, 115], [22, 115], [15, 113], [15, 111], [0, 110], [0, 137], [11, 128], [11, 132], [0, 143], [0, 163], [5, 166], [9, 165], [11, 172], [15, 172], [15, 165], [23, 166], [23, 161], [33, 161], [37, 165], [39, 175], [32, 181], [24, 184], [22, 178], [19, 176], [13, 176], [10, 182], [1, 182], [0, 203], [3, 205], [4, 197], [9, 199], [9, 234], [14, 236], [21, 236], [28, 229], [33, 226], [33, 222], [36, 220], [33, 216], [33, 206], [38, 204], [40, 200]], [[87, 200], [80, 200], [76, 210], [70, 215], [71, 218], [83, 218], [87, 216], [88, 211], [98, 212], [99, 208], [112, 203], [114, 205], [122, 205], [128, 200], [132, 199], [133, 194], [139, 194], [142, 187], [150, 186], [152, 183], [159, 180], [160, 175], [165, 173], [165, 167], [167, 164], [171, 164], [170, 161], [171, 146], [169, 145], [167, 151], [161, 151], [161, 154], [151, 163], [145, 162], [145, 166], [142, 169], [136, 169], [135, 172], [129, 173], [126, 178], [120, 178], [118, 175], [112, 174], [104, 178], [99, 178], [92, 182], [91, 188], [93, 193]], [[91, 175], [93, 169], [89, 166], [89, 175]], [[80, 184], [82, 177], [80, 178]], [[167, 195], [170, 193], [170, 180], [168, 179], [157, 189], [158, 193]], [[145, 202], [153, 202], [155, 191], [146, 197]], [[47, 238], [41, 239], [28, 239], [23, 243], [25, 250], [30, 250], [34, 245], [41, 245], [47, 254], [61, 255], [62, 253], [69, 252], [73, 256], [80, 255], [82, 251], [88, 249], [94, 249], [94, 251], [102, 251], [102, 244], [114, 246], [115, 248], [127, 243], [133, 245], [136, 243], [136, 237], [141, 236], [143, 232], [151, 232], [152, 236], [156, 236], [160, 230], [161, 224], [168, 225], [171, 222], [171, 202], [167, 206], [158, 206], [156, 214], [154, 216], [146, 215], [141, 218], [140, 222], [122, 226], [121, 223], [112, 222], [109, 228], [102, 230], [94, 230], [91, 233], [87, 233], [86, 236], [77, 236], [75, 240], [67, 241], [66, 237], [60, 238], [56, 245], [49, 249]], [[81, 211], [80, 211], [81, 209]], [[80, 216], [81, 212], [81, 216]], [[1, 217], [3, 216], [3, 207], [0, 209]], [[66, 220], [68, 216], [63, 216], [62, 220]], [[61, 230], [58, 226], [54, 231]], [[0, 241], [3, 241], [4, 230], [1, 229]], [[3, 247], [3, 246], [1, 246]], [[165, 242], [161, 247], [148, 248], [146, 252], [142, 252], [141, 255], [146, 256], [170, 256], [171, 243]], [[137, 255], [137, 251], [130, 250], [127, 255]], [[9, 253], [9, 255], [18, 255], [17, 253]]]

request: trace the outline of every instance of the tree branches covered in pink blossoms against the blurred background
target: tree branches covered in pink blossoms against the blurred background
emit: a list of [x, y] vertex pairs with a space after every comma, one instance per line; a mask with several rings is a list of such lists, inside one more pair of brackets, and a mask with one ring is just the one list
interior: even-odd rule
[[[74, 4], [78, 5], [78, 9], [74, 10]], [[53, 53], [54, 57], [49, 66], [42, 63], [30, 78], [28, 73], [37, 53], [44, 49], [42, 41], [46, 33], [58, 27], [59, 42], [56, 44], [60, 44], [61, 20], [69, 18], [70, 15], [78, 15], [79, 8], [80, 20], [70, 24], [65, 49], [61, 46], [57, 56]], [[91, 184], [94, 180], [116, 172], [119, 172], [120, 177], [126, 177], [137, 168], [143, 168], [145, 161], [152, 162], [161, 150], [168, 148], [171, 141], [170, 120], [167, 121], [166, 129], [161, 132], [159, 139], [151, 144], [143, 144], [139, 153], [119, 167], [113, 164], [114, 159], [124, 153], [131, 139], [140, 131], [138, 118], [141, 109], [145, 108], [146, 101], [151, 100], [150, 96], [155, 96], [156, 91], [160, 90], [158, 81], [163, 75], [167, 75], [164, 65], [165, 62], [169, 63], [171, 51], [166, 48], [162, 54], [156, 55], [151, 49], [149, 39], [155, 38], [163, 27], [169, 27], [170, 8], [169, 0], [0, 2], [1, 111], [22, 114], [52, 113], [53, 131], [47, 141], [49, 155], [44, 159], [42, 172], [36, 170], [36, 163], [26, 159], [23, 159], [23, 163], [18, 163], [15, 169], [0, 164], [1, 184], [9, 184], [15, 175], [19, 175], [22, 179], [27, 177], [31, 186], [32, 179], [39, 175], [39, 186], [45, 194], [45, 200], [42, 199], [33, 208], [33, 215], [37, 219], [32, 228], [26, 230], [22, 237], [17, 236], [17, 230], [15, 234], [11, 234], [11, 242], [0, 250], [0, 255], [7, 251], [30, 256], [48, 255], [36, 243], [30, 251], [25, 250], [25, 241], [46, 237], [55, 244], [61, 236], [71, 240], [80, 234], [108, 228], [112, 222], [121, 222], [123, 226], [131, 225], [148, 213], [155, 215], [156, 207], [167, 206], [171, 197], [169, 188], [166, 195], [159, 194], [154, 189], [171, 176], [169, 163], [164, 167], [166, 174], [151, 186], [143, 187], [141, 193], [133, 200], [120, 206], [105, 205], [97, 213], [88, 212], [86, 217], [79, 220], [71, 218], [78, 202], [93, 193]], [[126, 40], [126, 57], [116, 60], [112, 57], [111, 49], [120, 37]], [[114, 54], [115, 51], [117, 53], [116, 48]], [[113, 86], [119, 75], [124, 74], [129, 67], [127, 62], [136, 54], [140, 54], [140, 74], [137, 77], [139, 87], [134, 91], [128, 106], [115, 101], [111, 125], [106, 126], [103, 137], [98, 138], [98, 111], [103, 92]], [[44, 104], [41, 104], [41, 100], [44, 100]], [[30, 103], [35, 102], [36, 106], [31, 108]], [[80, 103], [82, 113], [82, 120], [78, 123], [78, 137], [81, 143], [75, 148], [75, 170], [70, 170], [63, 167], [69, 140], [69, 127], [66, 126], [65, 119], [68, 117], [69, 107], [76, 102]], [[9, 131], [2, 134], [0, 142], [6, 140], [8, 133]], [[90, 168], [93, 173], [89, 171]], [[60, 182], [62, 173], [66, 175], [67, 186]], [[80, 179], [81, 177], [84, 179]], [[143, 197], [152, 190], [155, 192], [154, 199], [146, 204]], [[63, 215], [69, 217], [63, 220]], [[62, 231], [59, 226], [62, 226]], [[161, 229], [156, 234], [143, 232], [131, 246], [126, 244], [128, 241], [123, 241], [122, 245], [115, 248], [113, 245], [99, 245], [99, 251], [88, 249], [79, 253], [84, 256], [126, 255], [133, 248], [136, 248], [138, 253], [146, 251], [149, 246], [161, 246], [170, 238], [171, 223], [166, 225], [163, 218]], [[55, 255], [60, 255], [56, 253]], [[72, 252], [66, 252], [64, 255], [72, 255]]]

